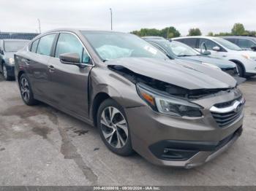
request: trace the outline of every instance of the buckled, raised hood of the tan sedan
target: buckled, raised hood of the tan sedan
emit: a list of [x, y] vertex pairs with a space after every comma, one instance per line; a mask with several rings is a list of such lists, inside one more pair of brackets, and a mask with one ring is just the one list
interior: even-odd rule
[[108, 66], [124, 66], [136, 74], [158, 79], [188, 90], [236, 86], [236, 80], [230, 75], [200, 63], [155, 58], [119, 58], [110, 60], [107, 64]]

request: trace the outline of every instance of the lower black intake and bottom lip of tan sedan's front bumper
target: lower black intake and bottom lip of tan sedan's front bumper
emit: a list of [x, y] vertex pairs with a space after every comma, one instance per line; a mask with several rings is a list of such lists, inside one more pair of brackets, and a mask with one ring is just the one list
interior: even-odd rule
[[[243, 129], [238, 128], [234, 133], [222, 141], [160, 141], [149, 147], [151, 152], [160, 160], [165, 160], [165, 165], [174, 165], [184, 168], [194, 168], [202, 165], [220, 155], [228, 149], [241, 136]], [[173, 149], [174, 148], [174, 149]], [[161, 153], [160, 151], [166, 151]]]

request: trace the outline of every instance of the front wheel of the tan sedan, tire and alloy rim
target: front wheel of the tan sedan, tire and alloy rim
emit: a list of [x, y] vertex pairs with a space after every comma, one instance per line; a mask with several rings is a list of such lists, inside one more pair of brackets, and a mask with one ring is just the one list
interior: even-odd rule
[[127, 117], [122, 106], [113, 99], [108, 98], [100, 104], [97, 112], [97, 128], [102, 141], [110, 151], [122, 156], [132, 155]]

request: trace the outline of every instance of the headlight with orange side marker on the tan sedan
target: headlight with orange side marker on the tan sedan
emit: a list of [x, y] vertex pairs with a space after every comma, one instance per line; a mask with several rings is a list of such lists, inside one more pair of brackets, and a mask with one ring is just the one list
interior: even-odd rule
[[138, 93], [151, 108], [162, 114], [169, 114], [175, 117], [201, 117], [201, 106], [187, 100], [161, 95], [142, 85], [137, 85]]

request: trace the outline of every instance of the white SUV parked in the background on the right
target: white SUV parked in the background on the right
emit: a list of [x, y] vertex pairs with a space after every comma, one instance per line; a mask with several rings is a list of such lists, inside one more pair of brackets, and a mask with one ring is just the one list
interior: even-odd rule
[[204, 47], [211, 52], [211, 57], [222, 58], [236, 63], [240, 77], [256, 75], [256, 52], [242, 50], [236, 44], [213, 36], [186, 36], [173, 38], [183, 42], [196, 50], [203, 52]]

